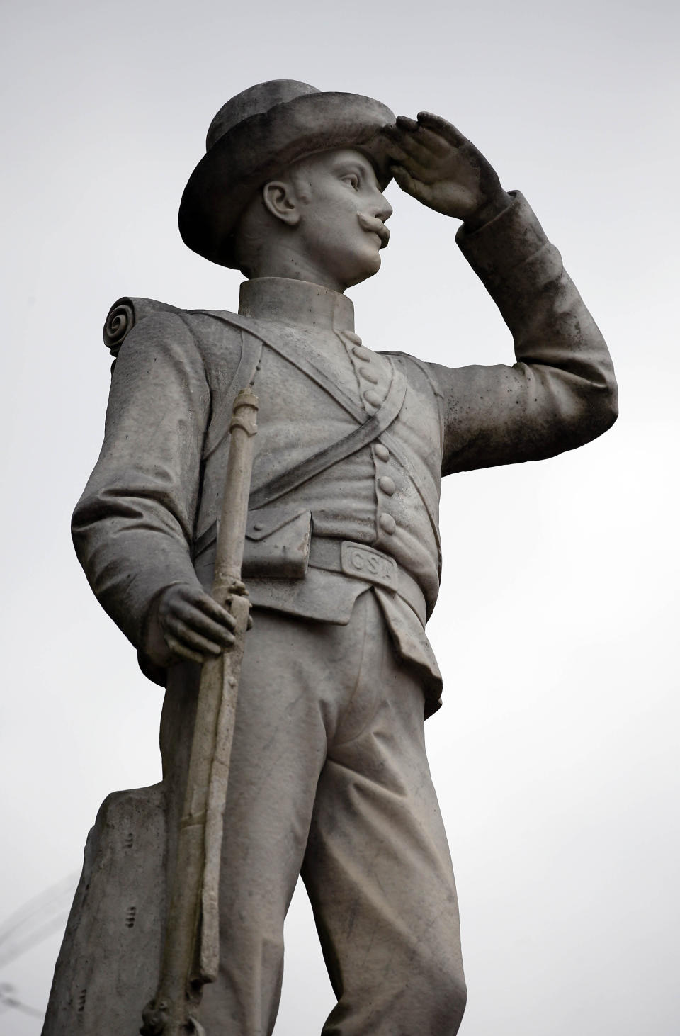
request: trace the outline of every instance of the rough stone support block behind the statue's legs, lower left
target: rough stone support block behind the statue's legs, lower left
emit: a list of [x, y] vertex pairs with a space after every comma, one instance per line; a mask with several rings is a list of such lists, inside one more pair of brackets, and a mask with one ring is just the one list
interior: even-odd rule
[[43, 1036], [134, 1036], [155, 990], [166, 892], [162, 785], [101, 804], [57, 966]]

